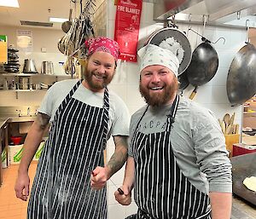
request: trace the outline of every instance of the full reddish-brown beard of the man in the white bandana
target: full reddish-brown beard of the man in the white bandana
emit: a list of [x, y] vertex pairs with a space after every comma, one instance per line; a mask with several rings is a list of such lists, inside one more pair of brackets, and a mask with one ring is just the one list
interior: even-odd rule
[[172, 84], [166, 84], [163, 92], [161, 93], [150, 93], [150, 89], [143, 87], [141, 83], [139, 88], [141, 95], [144, 97], [148, 105], [152, 107], [160, 107], [165, 105], [168, 101], [172, 100], [172, 98], [174, 98], [177, 93], [178, 86], [179, 84], [177, 78], [173, 78]]

